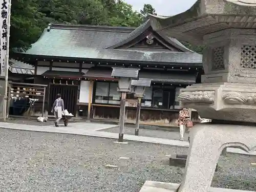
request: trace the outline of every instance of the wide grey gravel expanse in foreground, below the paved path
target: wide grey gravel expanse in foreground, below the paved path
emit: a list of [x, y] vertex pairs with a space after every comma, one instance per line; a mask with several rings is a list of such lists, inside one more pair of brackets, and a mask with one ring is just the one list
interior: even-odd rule
[[[0, 191], [138, 192], [145, 180], [181, 181], [183, 169], [168, 166], [165, 155], [185, 154], [186, 148], [113, 141], [0, 129]], [[212, 186], [256, 190], [255, 161], [243, 155], [221, 157]]]

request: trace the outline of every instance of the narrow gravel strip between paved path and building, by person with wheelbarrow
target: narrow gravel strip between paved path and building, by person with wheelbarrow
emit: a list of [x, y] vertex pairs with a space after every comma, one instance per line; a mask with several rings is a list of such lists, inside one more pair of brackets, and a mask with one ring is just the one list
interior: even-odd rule
[[[7, 119], [8, 123], [17, 123], [17, 124], [27, 124], [27, 125], [37, 125], [37, 126], [49, 126], [54, 125], [54, 120], [48, 120], [47, 122], [37, 122], [36, 119], [25, 119], [25, 118], [9, 118]], [[77, 121], [70, 121], [69, 123], [74, 123]], [[60, 124], [63, 124], [63, 120], [60, 120]]]

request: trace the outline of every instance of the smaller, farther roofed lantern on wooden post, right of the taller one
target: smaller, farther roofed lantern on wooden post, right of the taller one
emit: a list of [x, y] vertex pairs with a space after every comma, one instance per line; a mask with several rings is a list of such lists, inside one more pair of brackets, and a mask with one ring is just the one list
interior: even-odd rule
[[132, 80], [132, 86], [135, 86], [134, 95], [138, 98], [135, 135], [139, 135], [141, 98], [144, 96], [146, 87], [151, 86], [151, 79], [139, 78], [139, 80]]

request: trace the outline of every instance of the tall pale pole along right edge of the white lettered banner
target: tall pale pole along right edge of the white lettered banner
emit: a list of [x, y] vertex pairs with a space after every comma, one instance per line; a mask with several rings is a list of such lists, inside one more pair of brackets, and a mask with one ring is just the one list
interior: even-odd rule
[[3, 110], [3, 112], [4, 112], [4, 121], [6, 121], [6, 110], [7, 110], [10, 26], [11, 26], [11, 0], [9, 0], [9, 5], [8, 5], [8, 22], [7, 22], [7, 41], [6, 41], [6, 59], [5, 59], [5, 63], [6, 63], [6, 65], [5, 65], [5, 99], [4, 99], [4, 110]]

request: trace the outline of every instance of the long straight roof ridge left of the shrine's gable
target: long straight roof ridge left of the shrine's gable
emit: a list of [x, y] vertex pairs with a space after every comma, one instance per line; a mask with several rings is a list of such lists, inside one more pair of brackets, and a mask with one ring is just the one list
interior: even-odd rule
[[47, 27], [49, 32], [51, 29], [73, 29], [73, 30], [102, 30], [102, 31], [120, 31], [120, 32], [132, 32], [136, 27], [117, 27], [117, 26], [99, 26], [99, 25], [75, 25], [75, 24], [61, 24], [50, 23]]

